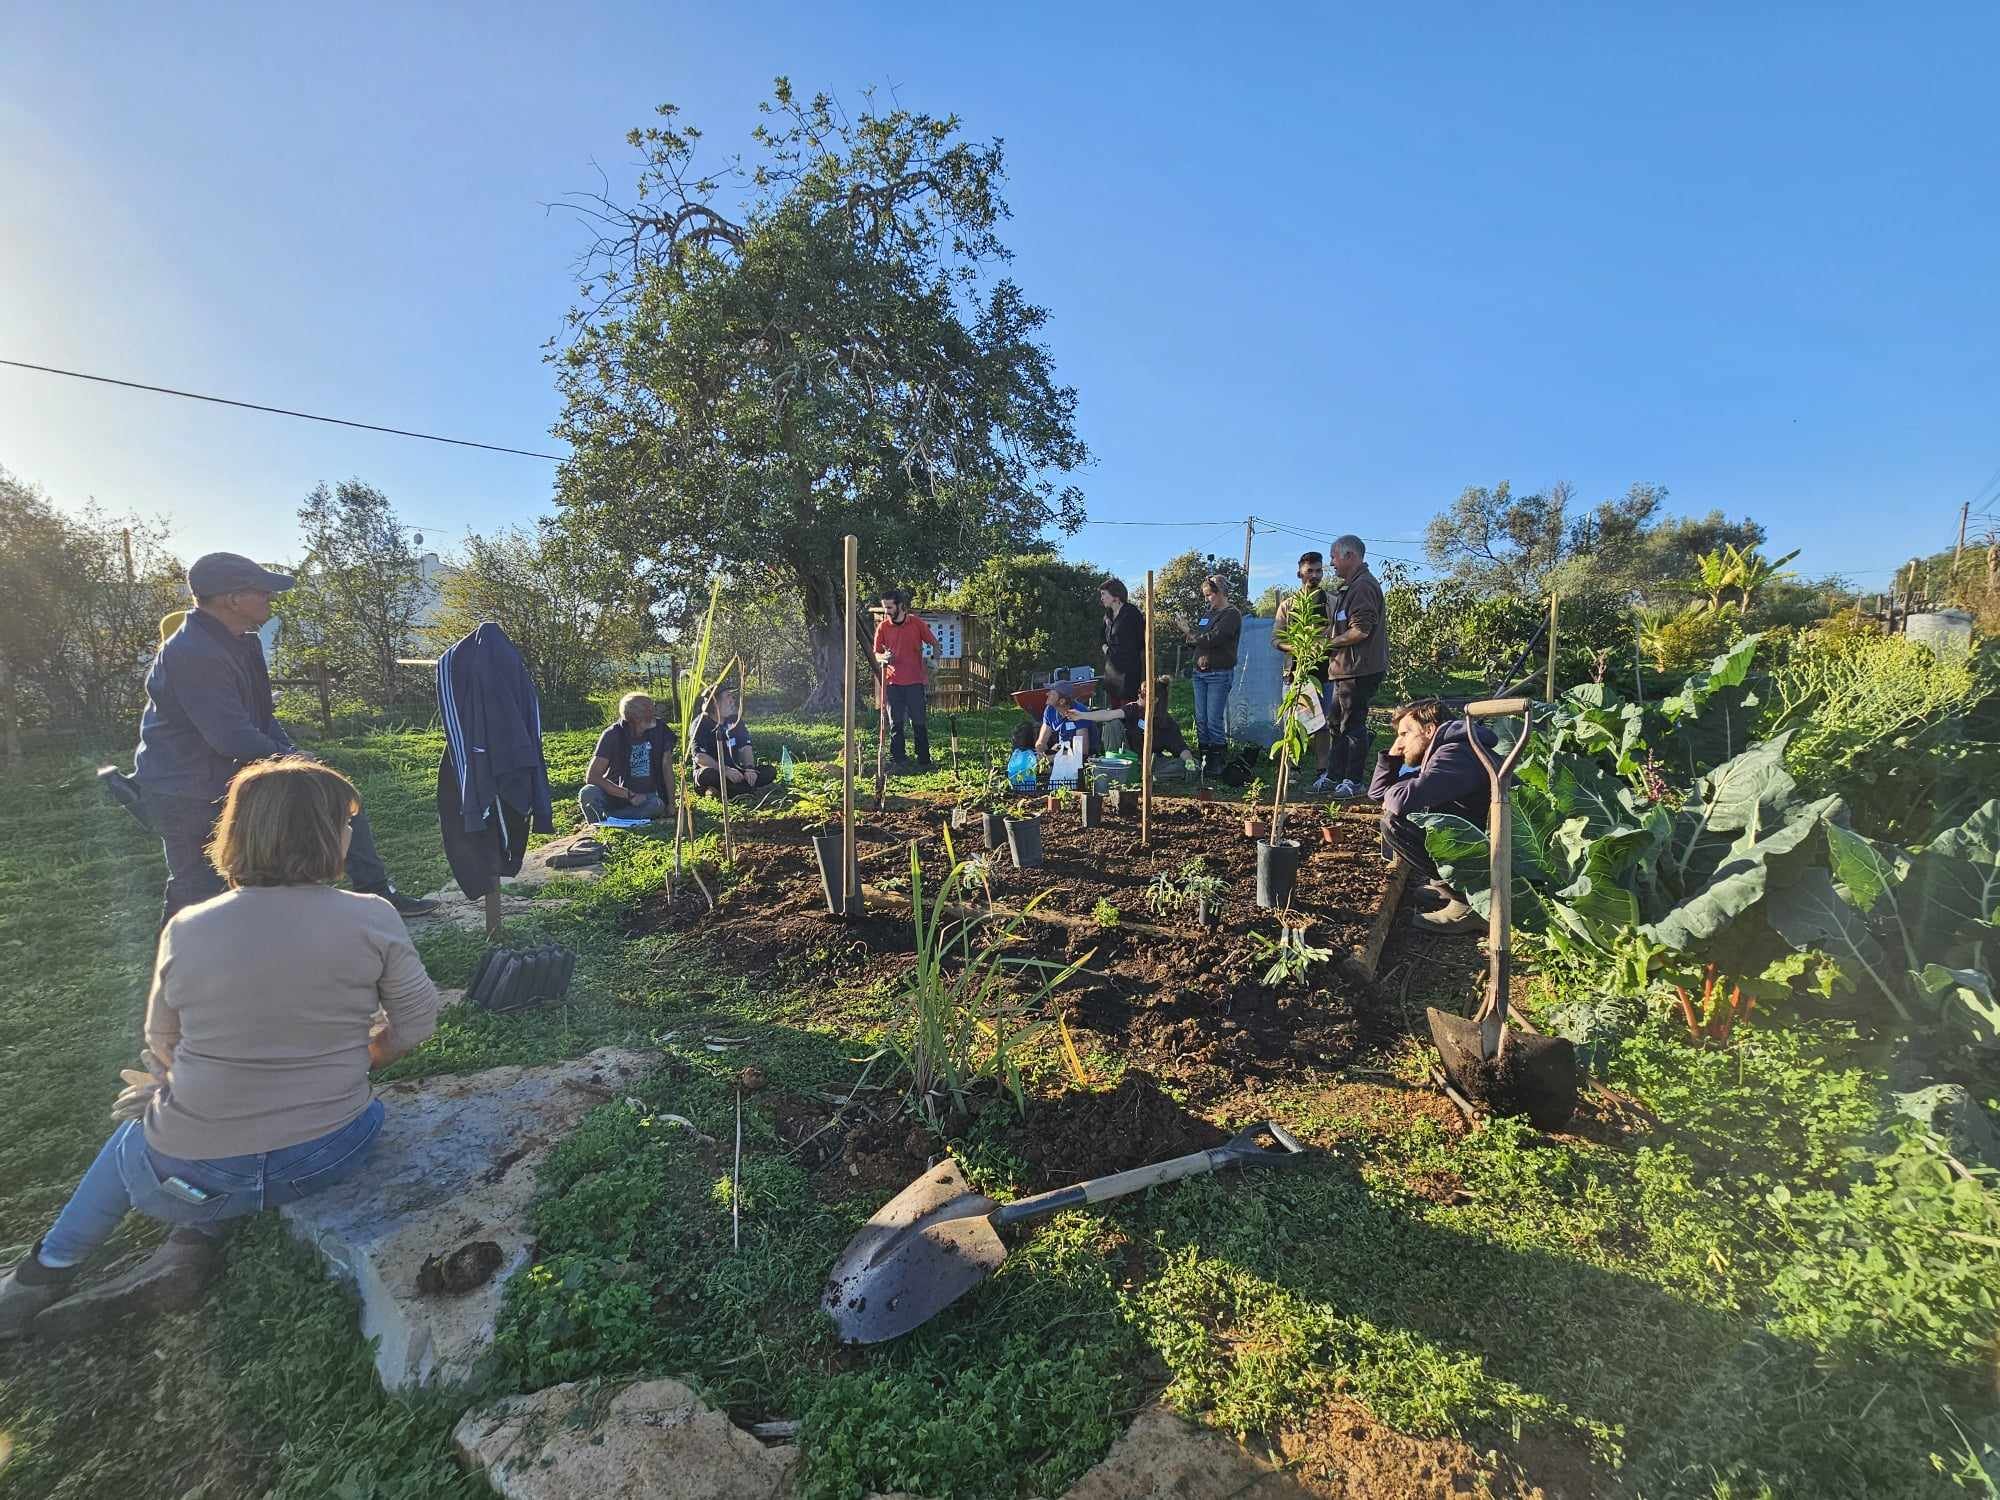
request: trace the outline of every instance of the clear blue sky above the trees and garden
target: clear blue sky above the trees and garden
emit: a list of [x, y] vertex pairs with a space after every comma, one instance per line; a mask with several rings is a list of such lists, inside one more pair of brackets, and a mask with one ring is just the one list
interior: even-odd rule
[[[1988, 4], [562, 10], [10, 8], [0, 358], [552, 448], [544, 204], [626, 186], [662, 100], [740, 138], [786, 72], [1006, 140], [1092, 518], [1208, 522], [1070, 544], [1128, 574], [1566, 478], [1872, 588], [2000, 470]], [[6, 368], [0, 464], [184, 556], [290, 554], [322, 478], [450, 538], [552, 474]]]

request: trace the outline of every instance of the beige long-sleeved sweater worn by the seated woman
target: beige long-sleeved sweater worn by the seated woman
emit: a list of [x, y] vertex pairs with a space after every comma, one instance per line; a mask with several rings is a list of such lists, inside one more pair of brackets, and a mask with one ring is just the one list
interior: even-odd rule
[[438, 990], [380, 896], [254, 886], [190, 906], [160, 934], [146, 1044], [168, 1084], [146, 1142], [212, 1160], [298, 1146], [368, 1108], [368, 1032], [386, 1050], [436, 1030]]

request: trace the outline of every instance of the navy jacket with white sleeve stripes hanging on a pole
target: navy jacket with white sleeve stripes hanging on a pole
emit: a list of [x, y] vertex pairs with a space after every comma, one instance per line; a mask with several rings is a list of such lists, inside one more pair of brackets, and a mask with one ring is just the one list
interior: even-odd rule
[[506, 632], [488, 622], [438, 658], [438, 830], [452, 878], [484, 896], [520, 874], [530, 826], [554, 832], [542, 700]]

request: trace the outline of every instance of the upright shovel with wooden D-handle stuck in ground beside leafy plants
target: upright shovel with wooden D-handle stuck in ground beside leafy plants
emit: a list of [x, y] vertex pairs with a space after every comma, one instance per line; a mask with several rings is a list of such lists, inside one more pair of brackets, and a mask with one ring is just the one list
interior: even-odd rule
[[1430, 1040], [1438, 1044], [1444, 1076], [1452, 1086], [1484, 1104], [1492, 1114], [1526, 1114], [1536, 1130], [1562, 1130], [1576, 1114], [1576, 1048], [1562, 1036], [1542, 1036], [1506, 1024], [1506, 992], [1512, 978], [1514, 908], [1514, 812], [1506, 786], [1528, 744], [1526, 698], [1486, 698], [1466, 704], [1466, 718], [1476, 730], [1478, 720], [1520, 714], [1520, 738], [1506, 758], [1494, 766], [1476, 732], [1468, 732], [1472, 750], [1486, 766], [1492, 800], [1486, 808], [1486, 862], [1490, 872], [1490, 910], [1486, 918], [1486, 998], [1466, 1020], [1436, 1006], [1426, 1010]]

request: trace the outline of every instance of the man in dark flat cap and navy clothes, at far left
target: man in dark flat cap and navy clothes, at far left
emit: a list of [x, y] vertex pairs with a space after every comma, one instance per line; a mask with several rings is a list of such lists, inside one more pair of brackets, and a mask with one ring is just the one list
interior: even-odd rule
[[[138, 782], [148, 822], [166, 846], [166, 906], [174, 912], [224, 890], [208, 864], [208, 840], [230, 778], [252, 760], [292, 756], [298, 748], [270, 704], [270, 670], [256, 630], [270, 620], [270, 596], [292, 580], [240, 558], [210, 552], [188, 568], [194, 608], [160, 642], [146, 672], [146, 712], [138, 722]], [[398, 892], [376, 854], [368, 814], [354, 816], [348, 880], [382, 896], [404, 916], [422, 916], [432, 902]]]

